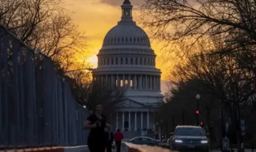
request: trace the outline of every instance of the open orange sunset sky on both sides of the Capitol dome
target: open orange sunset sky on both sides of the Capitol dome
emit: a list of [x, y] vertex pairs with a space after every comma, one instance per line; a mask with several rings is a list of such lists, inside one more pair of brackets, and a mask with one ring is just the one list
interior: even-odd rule
[[[138, 20], [139, 5], [144, 0], [130, 0], [133, 5], [133, 19]], [[87, 61], [91, 62], [94, 67], [97, 67], [97, 56], [103, 38], [108, 30], [114, 27], [121, 19], [121, 5], [123, 0], [66, 0], [66, 7], [70, 11], [74, 11], [72, 18], [79, 26], [79, 31], [84, 32], [86, 36], [87, 50], [90, 52]], [[141, 25], [139, 25], [141, 27]], [[145, 30], [147, 33], [148, 31]], [[150, 35], [149, 35], [150, 36]], [[167, 79], [168, 63], [163, 63], [161, 55], [161, 45], [157, 42], [152, 42], [150, 38], [151, 47], [158, 55], [156, 59], [156, 66], [163, 72], [162, 79]]]

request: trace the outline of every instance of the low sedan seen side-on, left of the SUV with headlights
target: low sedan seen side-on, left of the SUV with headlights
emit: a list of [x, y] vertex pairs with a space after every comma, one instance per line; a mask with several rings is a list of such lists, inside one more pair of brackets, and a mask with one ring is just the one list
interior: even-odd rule
[[160, 146], [161, 142], [149, 137], [135, 137], [127, 142], [137, 145]]

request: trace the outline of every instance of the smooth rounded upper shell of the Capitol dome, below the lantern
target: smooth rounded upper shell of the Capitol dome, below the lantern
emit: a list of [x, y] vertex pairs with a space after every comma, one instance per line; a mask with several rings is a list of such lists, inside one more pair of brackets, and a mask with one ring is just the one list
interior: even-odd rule
[[103, 40], [103, 46], [141, 45], [149, 46], [146, 32], [135, 24], [118, 24], [111, 28]]

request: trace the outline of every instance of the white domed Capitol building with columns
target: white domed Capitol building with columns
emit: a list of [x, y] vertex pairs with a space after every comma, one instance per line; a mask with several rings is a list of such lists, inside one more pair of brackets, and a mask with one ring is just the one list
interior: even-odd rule
[[102, 85], [127, 88], [125, 101], [112, 114], [113, 127], [135, 136], [155, 130], [155, 113], [163, 102], [161, 70], [147, 34], [132, 19], [131, 2], [121, 7], [121, 21], [105, 36], [92, 74]]

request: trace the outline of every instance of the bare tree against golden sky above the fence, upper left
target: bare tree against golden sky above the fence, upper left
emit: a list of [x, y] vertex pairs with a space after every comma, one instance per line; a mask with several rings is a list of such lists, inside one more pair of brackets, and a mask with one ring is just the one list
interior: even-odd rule
[[84, 54], [85, 43], [63, 4], [55, 0], [3, 0], [0, 24], [67, 71], [74, 68], [75, 55]]

